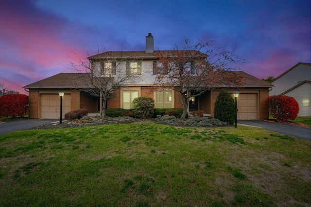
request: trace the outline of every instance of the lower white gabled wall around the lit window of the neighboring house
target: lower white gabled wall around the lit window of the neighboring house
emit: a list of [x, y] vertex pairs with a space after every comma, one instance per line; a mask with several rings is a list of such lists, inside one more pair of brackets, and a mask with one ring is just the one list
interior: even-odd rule
[[[298, 116], [311, 117], [311, 84], [304, 83], [299, 87], [294, 88], [293, 90], [284, 94], [284, 96], [291, 96], [296, 99], [299, 104], [299, 113]], [[309, 106], [302, 106], [302, 99], [309, 99]]]

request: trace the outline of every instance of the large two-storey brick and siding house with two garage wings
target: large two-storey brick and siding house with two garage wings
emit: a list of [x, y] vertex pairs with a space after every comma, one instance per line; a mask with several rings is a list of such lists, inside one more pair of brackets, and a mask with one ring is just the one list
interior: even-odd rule
[[[158, 66], [157, 53], [170, 54], [170, 50], [154, 50], [154, 39], [151, 33], [146, 36], [145, 51], [108, 51], [88, 57], [92, 73], [97, 71], [100, 75], [112, 79], [127, 75], [135, 75], [139, 79], [123, 83], [115, 87], [109, 96], [106, 108], [132, 108], [135, 97], [148, 96], [155, 100], [155, 108], [182, 108], [178, 92], [174, 90], [151, 90], [155, 77], [164, 67]], [[207, 55], [196, 50], [187, 50], [199, 54], [199, 58]], [[155, 67], [155, 65], [157, 65]], [[162, 69], [162, 70], [160, 70]], [[192, 73], [192, 67], [189, 65]], [[242, 88], [229, 87], [230, 93], [239, 91], [238, 119], [266, 119], [268, 106], [265, 99], [269, 96], [272, 84], [260, 80], [242, 71], [231, 71], [232, 75], [241, 76], [244, 80]], [[59, 73], [44, 80], [26, 85], [29, 90], [29, 117], [30, 118], [59, 118], [60, 97], [58, 92], [64, 92], [63, 114], [79, 108], [86, 108], [88, 112], [102, 111], [102, 99], [91, 96], [87, 90], [90, 88], [89, 73]], [[225, 87], [225, 86], [224, 86]], [[216, 97], [222, 87], [213, 88], [201, 96], [191, 98], [189, 111], [203, 110], [213, 116]]]

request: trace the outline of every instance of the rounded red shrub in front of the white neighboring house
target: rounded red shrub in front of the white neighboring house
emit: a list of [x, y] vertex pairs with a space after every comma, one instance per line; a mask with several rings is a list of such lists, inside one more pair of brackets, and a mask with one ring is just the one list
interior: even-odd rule
[[298, 102], [290, 96], [269, 96], [266, 104], [269, 114], [280, 121], [295, 120], [299, 112]]

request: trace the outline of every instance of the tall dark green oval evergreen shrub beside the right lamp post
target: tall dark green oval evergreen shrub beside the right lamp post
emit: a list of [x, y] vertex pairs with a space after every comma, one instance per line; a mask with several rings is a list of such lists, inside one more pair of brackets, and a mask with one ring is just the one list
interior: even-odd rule
[[216, 98], [214, 118], [229, 124], [235, 122], [234, 98], [225, 90], [222, 90]]

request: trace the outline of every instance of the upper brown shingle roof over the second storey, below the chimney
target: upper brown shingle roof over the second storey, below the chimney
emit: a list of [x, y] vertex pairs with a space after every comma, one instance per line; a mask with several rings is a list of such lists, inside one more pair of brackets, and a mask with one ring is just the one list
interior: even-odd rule
[[176, 51], [184, 51], [192, 53], [197, 57], [207, 58], [207, 54], [197, 50], [156, 50], [153, 53], [146, 53], [146, 51], [107, 51], [100, 54], [87, 57], [87, 59], [125, 59], [125, 58], [143, 58], [143, 59], [156, 59], [159, 54], [165, 54], [166, 56], [173, 56]]

